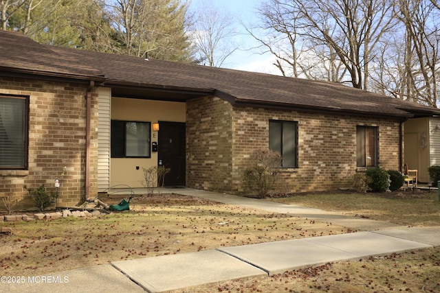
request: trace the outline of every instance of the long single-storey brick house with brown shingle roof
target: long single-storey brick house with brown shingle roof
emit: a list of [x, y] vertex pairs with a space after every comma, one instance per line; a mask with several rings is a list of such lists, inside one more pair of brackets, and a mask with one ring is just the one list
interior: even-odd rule
[[[285, 191], [349, 187], [401, 169], [404, 121], [440, 110], [340, 84], [39, 45], [0, 32], [0, 198], [61, 182], [61, 207], [114, 185], [240, 194], [254, 150], [283, 154]], [[159, 130], [155, 127], [159, 126]], [[67, 172], [61, 176], [63, 167]]]

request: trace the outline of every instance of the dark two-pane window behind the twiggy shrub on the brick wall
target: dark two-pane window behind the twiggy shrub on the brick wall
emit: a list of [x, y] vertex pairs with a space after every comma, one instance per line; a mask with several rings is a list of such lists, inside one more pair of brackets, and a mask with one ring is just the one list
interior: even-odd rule
[[298, 167], [298, 122], [270, 120], [269, 148], [281, 154], [282, 167]]

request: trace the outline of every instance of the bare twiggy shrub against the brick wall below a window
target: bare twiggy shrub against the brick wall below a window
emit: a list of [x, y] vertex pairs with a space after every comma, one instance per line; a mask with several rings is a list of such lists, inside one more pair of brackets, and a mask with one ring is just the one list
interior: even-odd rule
[[272, 150], [256, 150], [250, 156], [250, 167], [243, 174], [246, 191], [265, 198], [274, 187], [278, 174], [274, 168], [281, 166], [281, 154]]

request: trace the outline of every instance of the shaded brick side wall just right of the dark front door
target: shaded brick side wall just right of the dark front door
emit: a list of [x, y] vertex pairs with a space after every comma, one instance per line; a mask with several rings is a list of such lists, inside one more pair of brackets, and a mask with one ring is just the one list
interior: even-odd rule
[[217, 97], [186, 105], [186, 185], [229, 192], [232, 186], [232, 106]]

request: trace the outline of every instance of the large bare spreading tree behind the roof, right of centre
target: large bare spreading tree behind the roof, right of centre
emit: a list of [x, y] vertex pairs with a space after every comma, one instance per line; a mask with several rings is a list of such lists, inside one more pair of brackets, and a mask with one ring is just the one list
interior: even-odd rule
[[[267, 20], [267, 29], [283, 34], [296, 49], [314, 49], [316, 53], [311, 56], [321, 56], [321, 60], [322, 53], [326, 52], [329, 80], [338, 80], [334, 70], [347, 71], [353, 87], [367, 89], [373, 49], [392, 27], [393, 3], [388, 0], [268, 0], [260, 14]], [[264, 45], [276, 51], [272, 49], [274, 43], [276, 40]], [[289, 54], [284, 56], [288, 58]], [[344, 65], [343, 69], [339, 62]], [[294, 61], [294, 66], [303, 71], [308, 68], [300, 58]]]

